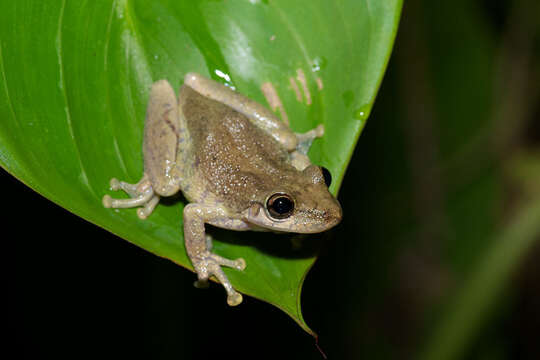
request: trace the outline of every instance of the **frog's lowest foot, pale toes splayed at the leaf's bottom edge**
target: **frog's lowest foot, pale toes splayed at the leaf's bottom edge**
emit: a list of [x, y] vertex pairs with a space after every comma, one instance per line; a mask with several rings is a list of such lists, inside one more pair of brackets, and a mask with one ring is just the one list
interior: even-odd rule
[[198, 280], [194, 284], [195, 287], [208, 287], [208, 278], [210, 276], [215, 276], [227, 292], [227, 304], [236, 306], [242, 302], [242, 294], [234, 290], [231, 282], [221, 269], [221, 266], [228, 266], [242, 271], [246, 268], [244, 259], [238, 258], [236, 260], [229, 260], [219, 255], [212, 254], [209, 251], [205, 251], [200, 257], [198, 256], [197, 259], [194, 259], [192, 262], [198, 277]]

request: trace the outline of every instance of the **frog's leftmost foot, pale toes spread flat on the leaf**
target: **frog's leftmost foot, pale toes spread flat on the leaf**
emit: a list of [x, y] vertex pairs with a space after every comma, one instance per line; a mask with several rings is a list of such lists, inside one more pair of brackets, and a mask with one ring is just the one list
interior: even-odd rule
[[154, 193], [152, 185], [146, 176], [137, 184], [129, 184], [112, 178], [110, 187], [113, 191], [125, 191], [131, 196], [131, 199], [113, 199], [109, 195], [105, 195], [103, 197], [103, 206], [115, 209], [142, 206], [137, 209], [137, 215], [141, 219], [146, 219], [159, 202], [159, 196]]

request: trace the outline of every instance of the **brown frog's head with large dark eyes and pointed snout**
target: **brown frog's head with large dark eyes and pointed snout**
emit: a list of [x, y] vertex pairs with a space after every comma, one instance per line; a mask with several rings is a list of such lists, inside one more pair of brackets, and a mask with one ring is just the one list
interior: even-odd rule
[[330, 173], [315, 165], [301, 176], [270, 191], [264, 203], [253, 203], [246, 220], [257, 226], [283, 232], [318, 233], [337, 225], [341, 206], [328, 191]]

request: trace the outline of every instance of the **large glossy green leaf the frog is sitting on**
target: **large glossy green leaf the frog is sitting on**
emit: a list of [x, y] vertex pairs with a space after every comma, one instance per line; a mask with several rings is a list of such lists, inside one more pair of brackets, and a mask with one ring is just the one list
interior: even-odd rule
[[[190, 268], [182, 200], [159, 205], [145, 221], [134, 209], [101, 204], [111, 177], [141, 177], [152, 82], [165, 78], [178, 89], [196, 71], [264, 104], [261, 85], [270, 82], [295, 131], [325, 125], [310, 157], [332, 172], [337, 193], [400, 10], [400, 0], [5, 1], [0, 164], [75, 214]], [[302, 73], [306, 92], [297, 80]], [[267, 250], [275, 235], [219, 231], [215, 237], [217, 253], [247, 261], [244, 272], [227, 270], [238, 290], [278, 306], [310, 331], [299, 297], [314, 251]]]

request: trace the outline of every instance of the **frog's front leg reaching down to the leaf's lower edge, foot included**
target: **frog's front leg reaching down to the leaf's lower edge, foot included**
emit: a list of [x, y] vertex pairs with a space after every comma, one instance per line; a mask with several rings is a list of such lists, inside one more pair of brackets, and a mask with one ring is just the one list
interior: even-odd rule
[[204, 230], [205, 223], [226, 218], [226, 211], [221, 207], [188, 204], [184, 208], [184, 238], [187, 254], [197, 273], [196, 286], [202, 287], [210, 276], [215, 276], [227, 292], [227, 303], [235, 306], [242, 302], [242, 295], [234, 290], [221, 266], [244, 270], [246, 262], [242, 258], [229, 260], [210, 252], [210, 239], [206, 237]]

